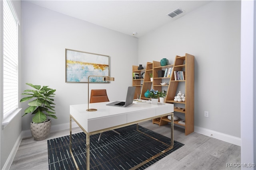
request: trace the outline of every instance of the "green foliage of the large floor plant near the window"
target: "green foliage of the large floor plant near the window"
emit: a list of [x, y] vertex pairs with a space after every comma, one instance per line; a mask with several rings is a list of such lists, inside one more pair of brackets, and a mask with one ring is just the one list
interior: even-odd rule
[[[28, 95], [28, 97], [24, 97], [20, 100], [20, 102], [26, 102], [28, 100], [32, 100], [28, 102], [29, 107], [25, 109], [24, 115], [28, 113], [32, 113], [34, 115], [32, 117], [32, 121], [34, 123], [43, 123], [47, 121], [47, 116], [53, 117], [57, 119], [55, 114], [55, 105], [53, 103], [54, 99], [54, 92], [52, 88], [48, 88], [48, 86], [43, 86], [41, 88], [40, 85], [33, 85], [31, 83], [26, 83], [28, 86], [36, 90], [24, 90], [25, 93], [22, 95]], [[24, 116], [22, 115], [22, 117]]]

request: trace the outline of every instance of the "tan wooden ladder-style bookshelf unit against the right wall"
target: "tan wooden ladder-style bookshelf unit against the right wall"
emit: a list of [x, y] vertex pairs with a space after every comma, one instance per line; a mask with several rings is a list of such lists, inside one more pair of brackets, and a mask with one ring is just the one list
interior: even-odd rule
[[[138, 66], [136, 66], [138, 70]], [[133, 66], [134, 68], [134, 66]], [[165, 70], [166, 68], [172, 68], [170, 72], [170, 77], [158, 77], [159, 70]], [[185, 80], [175, 80], [174, 71], [183, 71], [185, 72]], [[153, 74], [153, 82], [150, 81], [150, 73]], [[135, 82], [133, 80], [133, 82]], [[168, 82], [167, 85], [161, 85], [161, 82]], [[141, 83], [141, 82], [140, 82]], [[183, 84], [184, 89], [180, 89], [178, 91], [185, 91], [185, 102], [175, 102], [174, 96], [178, 93], [177, 88], [179, 84]], [[139, 86], [135, 85], [134, 86]], [[182, 86], [182, 87], [183, 87]], [[190, 54], [185, 54], [185, 56], [176, 56], [174, 60], [174, 64], [161, 66], [160, 62], [153, 61], [152, 63], [147, 63], [145, 70], [145, 77], [143, 81], [143, 85], [139, 86], [138, 92], [141, 93], [141, 99], [148, 100], [145, 98], [144, 93], [147, 90], [150, 90], [153, 87], [154, 90], [161, 91], [162, 88], [168, 88], [167, 94], [165, 98], [165, 103], [174, 104], [174, 115], [175, 113], [184, 114], [185, 117], [185, 125], [178, 123], [178, 121], [174, 121], [174, 124], [181, 125], [185, 128], [185, 135], [188, 135], [194, 132], [194, 56]], [[137, 88], [136, 88], [137, 90]], [[140, 91], [139, 91], [140, 90]], [[182, 92], [184, 92], [182, 91]], [[134, 98], [136, 98], [134, 96]], [[182, 107], [180, 107], [182, 105]], [[177, 108], [178, 106], [178, 108]], [[179, 109], [182, 108], [182, 109]], [[152, 120], [153, 123], [159, 124], [159, 126], [167, 124], [170, 120], [166, 117], [157, 118]]]

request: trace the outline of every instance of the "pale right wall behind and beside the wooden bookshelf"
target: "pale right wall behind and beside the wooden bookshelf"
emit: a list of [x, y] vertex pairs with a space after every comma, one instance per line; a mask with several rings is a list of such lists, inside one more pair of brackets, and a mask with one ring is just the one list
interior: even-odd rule
[[[240, 4], [209, 2], [139, 39], [140, 64], [162, 58], [173, 64], [176, 55], [194, 55], [194, 125], [238, 138]], [[204, 117], [204, 111], [209, 111], [209, 117]]]

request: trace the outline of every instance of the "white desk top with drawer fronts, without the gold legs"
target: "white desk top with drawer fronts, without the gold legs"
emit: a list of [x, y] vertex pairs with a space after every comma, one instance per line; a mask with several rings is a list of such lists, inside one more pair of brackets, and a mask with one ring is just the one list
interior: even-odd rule
[[86, 111], [88, 104], [70, 105], [70, 115], [80, 127], [87, 132], [98, 131], [118, 125], [136, 122], [143, 119], [173, 113], [174, 105], [159, 103], [131, 104], [128, 107], [106, 106], [110, 102], [92, 103], [89, 108], [97, 111]]

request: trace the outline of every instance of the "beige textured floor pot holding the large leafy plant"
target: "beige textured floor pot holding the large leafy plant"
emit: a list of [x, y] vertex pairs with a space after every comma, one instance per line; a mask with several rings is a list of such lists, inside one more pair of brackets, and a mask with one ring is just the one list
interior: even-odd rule
[[42, 141], [47, 138], [51, 131], [52, 121], [46, 121], [44, 123], [30, 123], [31, 135], [36, 141]]

